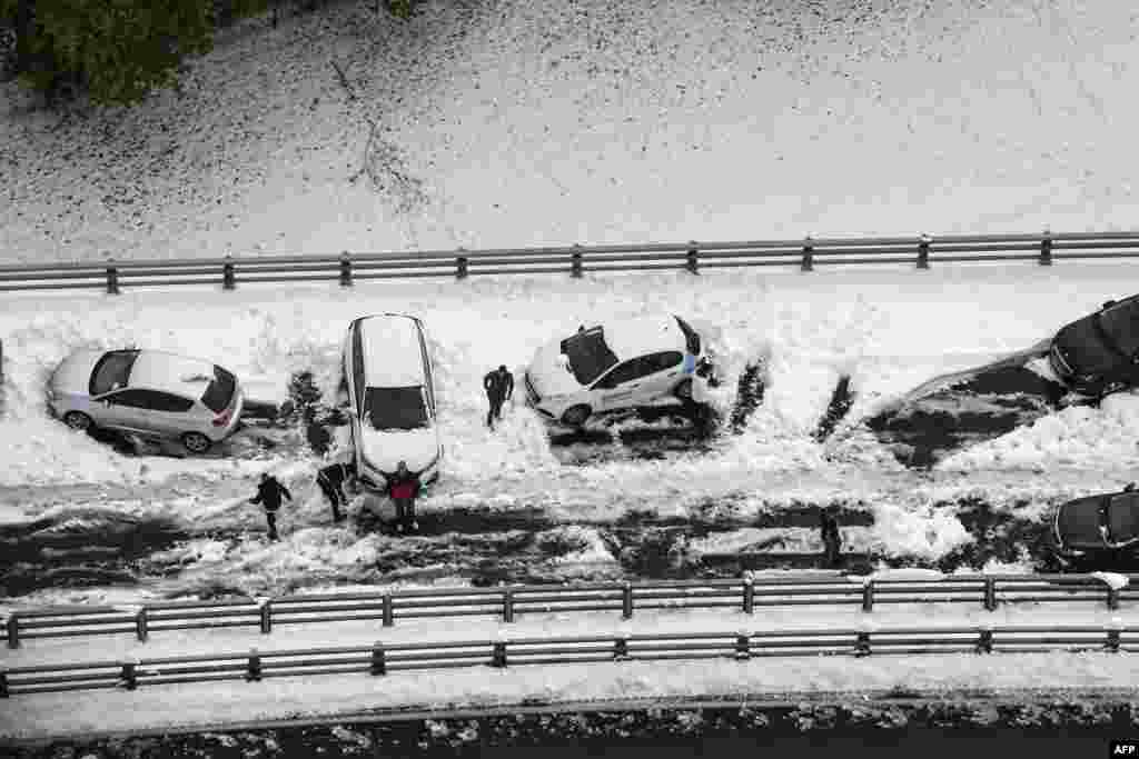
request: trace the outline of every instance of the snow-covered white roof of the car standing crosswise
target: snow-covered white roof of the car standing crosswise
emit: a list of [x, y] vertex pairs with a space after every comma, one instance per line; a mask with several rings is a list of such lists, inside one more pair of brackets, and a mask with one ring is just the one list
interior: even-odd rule
[[420, 324], [404, 314], [374, 314], [357, 320], [367, 387], [427, 385]]

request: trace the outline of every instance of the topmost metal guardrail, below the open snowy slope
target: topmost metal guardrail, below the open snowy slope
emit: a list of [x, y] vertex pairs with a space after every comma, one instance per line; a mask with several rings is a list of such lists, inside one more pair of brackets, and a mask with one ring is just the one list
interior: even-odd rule
[[25, 264], [0, 266], [0, 291], [238, 283], [338, 282], [473, 274], [550, 274], [737, 266], [816, 266], [902, 263], [929, 269], [940, 263], [1036, 262], [1139, 258], [1139, 232], [958, 234], [948, 237], [805, 238], [729, 242], [349, 253], [339, 255], [224, 256]]

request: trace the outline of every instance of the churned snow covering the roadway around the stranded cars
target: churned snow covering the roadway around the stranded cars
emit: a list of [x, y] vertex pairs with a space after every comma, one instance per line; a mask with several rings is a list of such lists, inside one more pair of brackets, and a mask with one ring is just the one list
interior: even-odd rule
[[[1040, 416], [920, 472], [899, 464], [859, 421], [932, 377], [1039, 344], [1122, 295], [1120, 283], [1133, 272], [1133, 264], [1088, 263], [507, 278], [349, 292], [298, 287], [287, 302], [252, 286], [116, 298], [13, 296], [0, 315], [7, 354], [0, 515], [8, 545], [28, 551], [8, 554], [26, 566], [9, 564], [6, 594], [130, 601], [345, 581], [683, 576], [696, 571], [686, 562], [710, 552], [764, 544], [816, 551], [811, 513], [820, 504], [844, 509], [851, 551], [895, 563], [995, 560], [1031, 568], [1049, 508], [1137, 479], [1139, 396]], [[331, 398], [347, 321], [386, 310], [425, 320], [437, 364], [448, 461], [421, 503], [432, 525], [424, 536], [393, 541], [331, 526], [312, 486], [318, 462], [295, 432], [276, 447], [247, 439], [236, 457], [124, 457], [44, 412], [43, 382], [77, 346], [133, 344], [215, 357], [277, 394], [293, 372], [311, 369]], [[600, 453], [584, 443], [551, 447], [519, 405], [498, 431], [484, 429], [487, 369], [524, 365], [567, 325], [658, 311], [690, 316], [707, 335], [726, 379], [713, 402], [726, 415], [740, 372], [765, 361], [763, 403], [738, 434], [693, 448], [666, 446], [675, 449], [654, 459], [638, 457], [620, 439]], [[852, 378], [853, 407], [819, 443], [811, 432], [841, 374]], [[244, 501], [263, 470], [298, 495], [282, 517], [280, 545], [249, 539], [261, 518]], [[101, 559], [99, 545], [74, 539], [100, 530], [112, 535]], [[128, 550], [137, 562], [124, 567], [114, 554], [128, 545], [145, 550]], [[77, 558], [71, 564], [98, 568], [106, 560], [108, 574], [68, 583], [64, 571], [47, 588], [30, 580], [52, 556], [67, 564], [67, 552]], [[501, 554], [508, 559], [495, 570]], [[120, 583], [137, 574], [147, 581]]]

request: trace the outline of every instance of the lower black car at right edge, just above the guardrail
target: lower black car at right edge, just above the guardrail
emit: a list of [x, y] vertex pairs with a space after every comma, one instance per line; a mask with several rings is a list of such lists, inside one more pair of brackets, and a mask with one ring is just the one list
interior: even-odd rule
[[1139, 489], [1068, 501], [1056, 510], [1056, 554], [1067, 566], [1139, 558]]

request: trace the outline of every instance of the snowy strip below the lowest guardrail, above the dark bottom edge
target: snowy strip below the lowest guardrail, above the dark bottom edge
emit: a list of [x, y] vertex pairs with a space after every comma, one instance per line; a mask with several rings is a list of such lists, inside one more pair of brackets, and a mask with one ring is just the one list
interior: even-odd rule
[[[1049, 652], [916, 657], [806, 657], [700, 662], [616, 662], [445, 673], [286, 677], [260, 683], [190, 684], [21, 695], [0, 710], [11, 739], [304, 719], [401, 707], [445, 709], [523, 702], [617, 701], [723, 694], [962, 690], [1128, 688], [1139, 678], [1134, 654]], [[174, 696], [174, 698], [166, 698]]]

